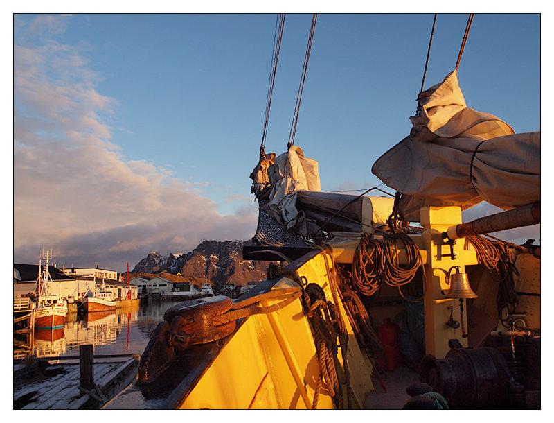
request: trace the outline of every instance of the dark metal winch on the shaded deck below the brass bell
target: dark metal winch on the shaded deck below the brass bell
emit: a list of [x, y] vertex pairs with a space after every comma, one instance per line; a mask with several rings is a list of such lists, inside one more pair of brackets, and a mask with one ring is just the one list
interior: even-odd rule
[[454, 347], [444, 359], [426, 355], [420, 381], [454, 408], [539, 408], [540, 337], [518, 331], [514, 353], [512, 332], [492, 332], [491, 347]]

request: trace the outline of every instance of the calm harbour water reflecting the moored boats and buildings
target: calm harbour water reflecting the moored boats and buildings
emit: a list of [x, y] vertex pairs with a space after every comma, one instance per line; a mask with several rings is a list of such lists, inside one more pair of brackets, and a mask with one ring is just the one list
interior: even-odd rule
[[82, 344], [94, 345], [95, 354], [142, 354], [150, 332], [175, 304], [178, 302], [152, 302], [111, 313], [68, 315], [64, 329], [15, 335], [14, 358], [78, 355]]

